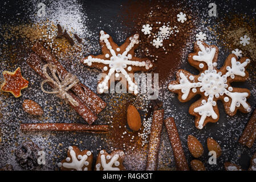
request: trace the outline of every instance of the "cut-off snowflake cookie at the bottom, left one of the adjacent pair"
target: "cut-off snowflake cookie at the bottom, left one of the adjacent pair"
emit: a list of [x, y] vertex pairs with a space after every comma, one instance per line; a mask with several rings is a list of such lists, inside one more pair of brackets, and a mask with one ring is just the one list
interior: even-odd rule
[[76, 146], [68, 147], [67, 158], [58, 163], [62, 171], [91, 171], [92, 152], [88, 150], [80, 151]]

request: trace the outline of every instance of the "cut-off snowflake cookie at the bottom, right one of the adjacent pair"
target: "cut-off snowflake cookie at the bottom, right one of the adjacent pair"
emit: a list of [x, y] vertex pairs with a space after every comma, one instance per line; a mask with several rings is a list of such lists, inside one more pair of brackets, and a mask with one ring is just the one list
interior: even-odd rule
[[105, 150], [101, 150], [96, 160], [96, 171], [124, 171], [123, 166], [124, 151], [114, 150], [108, 154]]

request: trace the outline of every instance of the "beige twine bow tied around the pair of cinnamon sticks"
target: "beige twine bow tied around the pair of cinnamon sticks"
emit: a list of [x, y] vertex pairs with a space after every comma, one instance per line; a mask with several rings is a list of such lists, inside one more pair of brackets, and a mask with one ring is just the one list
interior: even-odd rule
[[[52, 77], [48, 75], [47, 68], [50, 69]], [[62, 79], [56, 65], [53, 64], [45, 64], [43, 66], [43, 75], [47, 78], [41, 83], [41, 89], [44, 93], [56, 94], [59, 98], [69, 101], [73, 106], [79, 106], [79, 103], [74, 100], [70, 94], [68, 94], [68, 90], [79, 82], [75, 75], [68, 73], [67, 76]], [[51, 82], [55, 88], [52, 91], [44, 90], [43, 85], [46, 82]]]

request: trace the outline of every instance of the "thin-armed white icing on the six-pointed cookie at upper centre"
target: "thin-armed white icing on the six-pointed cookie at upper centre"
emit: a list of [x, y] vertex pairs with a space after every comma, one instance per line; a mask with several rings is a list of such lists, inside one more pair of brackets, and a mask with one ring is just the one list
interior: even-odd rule
[[[92, 63], [101, 63], [101, 64], [105, 64], [108, 65], [109, 69], [108, 69], [108, 77], [106, 76], [104, 78], [103, 81], [101, 81], [98, 85], [98, 92], [99, 93], [103, 93], [104, 90], [108, 89], [108, 81], [110, 80], [112, 74], [115, 74], [115, 72], [117, 73], [121, 73], [125, 76], [125, 78], [127, 78], [128, 84], [129, 84], [129, 91], [132, 91], [133, 93], [138, 93], [138, 89], [135, 88], [136, 82], [133, 82], [132, 79], [128, 79], [131, 78], [129, 76], [129, 74], [127, 73], [127, 71], [132, 71], [132, 67], [128, 67], [127, 65], [132, 65], [135, 67], [145, 67], [146, 69], [152, 68], [153, 64], [151, 63], [151, 61], [133, 61], [132, 59], [132, 55], [128, 54], [129, 51], [131, 51], [131, 49], [135, 46], [135, 44], [139, 44], [139, 35], [135, 34], [133, 35], [131, 38], [129, 38], [130, 43], [127, 46], [127, 48], [125, 48], [125, 51], [123, 53], [116, 53], [113, 49], [111, 44], [108, 41], [109, 39], [109, 35], [105, 34], [104, 31], [100, 31], [100, 41], [103, 41], [105, 43], [105, 45], [107, 46], [107, 48], [109, 49], [110, 53], [111, 53], [111, 57], [109, 60], [105, 60], [105, 59], [97, 59], [97, 58], [92, 58], [92, 56], [88, 56], [88, 58], [86, 60], [84, 60], [84, 64], [87, 64], [88, 66], [92, 65]], [[120, 48], [116, 48], [116, 51], [119, 52]], [[117, 55], [116, 55], [117, 54]], [[127, 55], [128, 54], [128, 55]], [[108, 58], [109, 55], [105, 54], [105, 57]], [[127, 70], [125, 70], [127, 68]], [[105, 67], [103, 68], [104, 71], [107, 71], [107, 69], [105, 69]]]

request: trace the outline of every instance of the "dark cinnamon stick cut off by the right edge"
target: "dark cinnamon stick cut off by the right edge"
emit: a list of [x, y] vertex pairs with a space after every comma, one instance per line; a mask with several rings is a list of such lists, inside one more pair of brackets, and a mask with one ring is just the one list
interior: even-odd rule
[[238, 142], [241, 143], [243, 146], [246, 145], [247, 140], [249, 139], [250, 134], [254, 129], [255, 122], [256, 122], [256, 109], [253, 111], [253, 114], [251, 115], [249, 122], [247, 123], [241, 137], [238, 140]]

